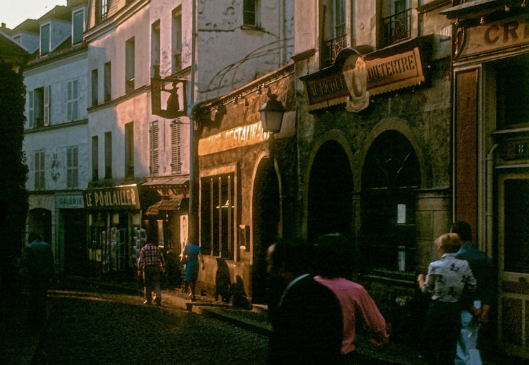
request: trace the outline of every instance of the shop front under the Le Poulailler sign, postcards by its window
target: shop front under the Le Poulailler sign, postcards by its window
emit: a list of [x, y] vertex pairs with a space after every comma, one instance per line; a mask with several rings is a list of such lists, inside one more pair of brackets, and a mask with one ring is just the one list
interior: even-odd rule
[[134, 273], [146, 233], [137, 185], [83, 191], [87, 257], [92, 275]]

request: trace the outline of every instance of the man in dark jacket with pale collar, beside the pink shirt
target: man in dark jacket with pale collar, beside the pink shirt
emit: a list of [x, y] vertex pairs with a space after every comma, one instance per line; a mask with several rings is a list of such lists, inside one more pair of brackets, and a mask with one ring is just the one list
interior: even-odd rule
[[[271, 317], [271, 364], [338, 364], [342, 309], [330, 289], [316, 282], [303, 264], [307, 244], [278, 242], [269, 250], [271, 281], [286, 286]], [[278, 287], [278, 286], [276, 286]]]

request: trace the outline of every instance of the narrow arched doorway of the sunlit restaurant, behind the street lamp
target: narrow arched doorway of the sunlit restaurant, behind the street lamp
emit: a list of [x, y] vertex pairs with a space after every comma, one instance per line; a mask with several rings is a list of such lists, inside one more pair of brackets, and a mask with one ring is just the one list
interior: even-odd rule
[[253, 303], [267, 302], [267, 249], [278, 238], [280, 222], [279, 181], [273, 163], [263, 158], [253, 183]]

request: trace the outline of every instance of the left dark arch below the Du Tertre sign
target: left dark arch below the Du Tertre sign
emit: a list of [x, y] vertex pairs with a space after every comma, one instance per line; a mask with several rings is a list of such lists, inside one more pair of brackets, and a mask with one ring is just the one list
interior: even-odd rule
[[316, 154], [309, 177], [307, 240], [314, 242], [325, 233], [340, 232], [351, 237], [353, 174], [340, 143], [325, 142]]

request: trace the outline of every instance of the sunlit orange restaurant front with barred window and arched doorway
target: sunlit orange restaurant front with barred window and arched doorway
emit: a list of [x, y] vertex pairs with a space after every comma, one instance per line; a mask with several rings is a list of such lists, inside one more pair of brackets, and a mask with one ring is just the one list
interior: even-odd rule
[[[259, 111], [269, 94], [287, 110], [273, 141]], [[223, 300], [266, 302], [265, 253], [295, 215], [289, 211], [295, 190], [280, 183], [296, 179], [294, 105], [291, 64], [203, 106], [198, 214], [206, 270], [199, 280]], [[282, 220], [285, 211], [289, 218]]]

